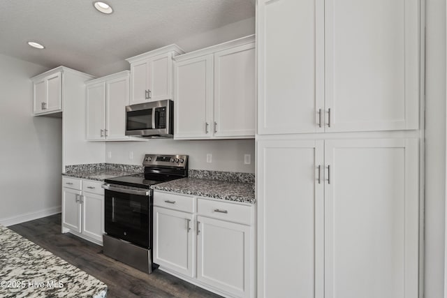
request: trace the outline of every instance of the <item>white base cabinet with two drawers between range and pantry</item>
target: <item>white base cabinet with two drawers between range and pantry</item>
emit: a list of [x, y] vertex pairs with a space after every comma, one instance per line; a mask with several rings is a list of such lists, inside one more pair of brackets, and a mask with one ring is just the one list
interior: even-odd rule
[[224, 297], [256, 297], [254, 205], [155, 191], [154, 206], [160, 269]]

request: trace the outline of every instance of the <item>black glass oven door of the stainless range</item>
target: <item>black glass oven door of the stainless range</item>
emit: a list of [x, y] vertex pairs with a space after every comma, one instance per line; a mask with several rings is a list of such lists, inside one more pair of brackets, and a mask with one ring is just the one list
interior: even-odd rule
[[110, 184], [104, 188], [105, 232], [112, 237], [150, 248], [152, 195], [124, 193], [127, 189], [115, 191]]

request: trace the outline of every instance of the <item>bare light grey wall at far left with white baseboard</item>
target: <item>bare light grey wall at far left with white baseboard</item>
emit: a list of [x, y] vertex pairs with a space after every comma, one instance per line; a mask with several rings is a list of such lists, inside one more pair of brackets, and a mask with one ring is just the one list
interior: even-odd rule
[[0, 54], [0, 223], [5, 225], [60, 211], [61, 119], [31, 115], [29, 78], [45, 70]]

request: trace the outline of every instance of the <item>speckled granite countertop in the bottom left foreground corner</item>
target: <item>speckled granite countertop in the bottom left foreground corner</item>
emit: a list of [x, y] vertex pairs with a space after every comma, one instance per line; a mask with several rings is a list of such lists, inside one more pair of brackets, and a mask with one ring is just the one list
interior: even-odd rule
[[107, 285], [0, 225], [1, 297], [103, 298]]

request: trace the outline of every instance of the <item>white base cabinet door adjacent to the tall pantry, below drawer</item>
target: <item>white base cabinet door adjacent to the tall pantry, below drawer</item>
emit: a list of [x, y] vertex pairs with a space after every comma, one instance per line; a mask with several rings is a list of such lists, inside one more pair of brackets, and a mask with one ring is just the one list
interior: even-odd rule
[[197, 216], [197, 278], [237, 297], [251, 297], [251, 227]]

